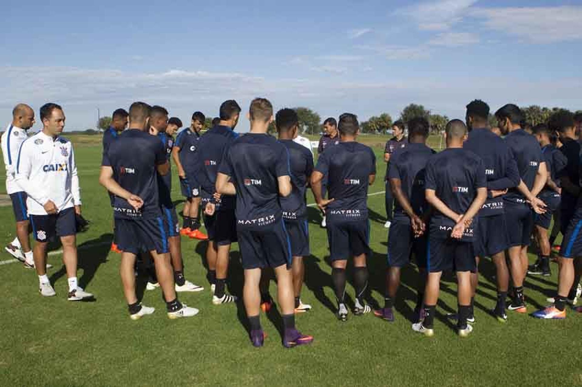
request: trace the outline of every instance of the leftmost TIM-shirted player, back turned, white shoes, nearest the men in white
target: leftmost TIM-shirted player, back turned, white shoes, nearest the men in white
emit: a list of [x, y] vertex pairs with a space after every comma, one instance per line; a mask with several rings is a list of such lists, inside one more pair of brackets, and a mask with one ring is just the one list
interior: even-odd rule
[[154, 313], [136, 296], [136, 255], [149, 252], [162, 288], [168, 318], [190, 317], [198, 309], [178, 301], [168, 250], [168, 235], [159, 205], [157, 174], [169, 172], [166, 149], [148, 133], [150, 105], [134, 102], [129, 108], [129, 129], [111, 144], [101, 163], [99, 182], [115, 194], [115, 240], [123, 251], [119, 274], [130, 318]]

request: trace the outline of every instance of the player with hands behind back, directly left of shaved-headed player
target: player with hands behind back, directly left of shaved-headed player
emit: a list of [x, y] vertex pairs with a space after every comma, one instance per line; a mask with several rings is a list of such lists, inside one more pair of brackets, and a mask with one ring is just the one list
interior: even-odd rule
[[[414, 253], [418, 266], [417, 300], [414, 315], [420, 320], [427, 275], [427, 230], [430, 208], [424, 197], [424, 173], [428, 159], [435, 153], [426, 145], [429, 124], [424, 118], [408, 123], [409, 144], [390, 153], [387, 178], [396, 199], [394, 217], [388, 234], [386, 292], [384, 308], [375, 316], [394, 321], [393, 306], [400, 286], [400, 271]], [[400, 140], [402, 141], [402, 139]]]

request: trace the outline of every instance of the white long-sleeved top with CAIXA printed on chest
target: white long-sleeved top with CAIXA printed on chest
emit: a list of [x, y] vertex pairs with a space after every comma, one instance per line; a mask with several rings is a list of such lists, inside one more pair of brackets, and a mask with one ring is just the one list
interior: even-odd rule
[[26, 205], [31, 215], [46, 215], [48, 200], [59, 211], [81, 204], [73, 145], [66, 138], [53, 139], [40, 131], [24, 141], [16, 164], [16, 182], [28, 195]]

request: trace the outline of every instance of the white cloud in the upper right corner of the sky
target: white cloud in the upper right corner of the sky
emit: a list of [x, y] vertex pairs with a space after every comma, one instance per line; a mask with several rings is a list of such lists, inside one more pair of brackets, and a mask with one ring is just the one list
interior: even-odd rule
[[532, 43], [582, 39], [582, 6], [474, 8], [471, 15], [492, 30]]

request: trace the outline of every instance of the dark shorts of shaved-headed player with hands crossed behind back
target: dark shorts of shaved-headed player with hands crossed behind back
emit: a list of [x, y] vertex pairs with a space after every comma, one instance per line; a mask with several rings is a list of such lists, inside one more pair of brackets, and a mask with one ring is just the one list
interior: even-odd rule
[[475, 273], [477, 261], [473, 242], [429, 235], [427, 270], [430, 273], [445, 270]]

